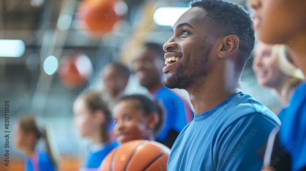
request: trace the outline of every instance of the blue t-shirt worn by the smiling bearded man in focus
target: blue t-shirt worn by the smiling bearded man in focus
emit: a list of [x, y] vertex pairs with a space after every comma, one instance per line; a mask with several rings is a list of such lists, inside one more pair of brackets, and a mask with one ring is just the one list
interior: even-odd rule
[[260, 170], [256, 151], [281, 122], [272, 111], [242, 92], [194, 115], [175, 141], [167, 170]]

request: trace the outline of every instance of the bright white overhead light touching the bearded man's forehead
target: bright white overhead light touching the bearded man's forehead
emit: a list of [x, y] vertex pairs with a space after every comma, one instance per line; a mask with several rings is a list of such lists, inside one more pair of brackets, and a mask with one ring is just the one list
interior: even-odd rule
[[153, 20], [160, 26], [173, 26], [188, 7], [160, 7], [153, 14]]

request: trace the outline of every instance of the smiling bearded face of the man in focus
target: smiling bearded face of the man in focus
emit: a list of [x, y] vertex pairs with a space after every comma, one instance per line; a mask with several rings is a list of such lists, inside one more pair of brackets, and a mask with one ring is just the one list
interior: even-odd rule
[[173, 36], [163, 46], [167, 66], [162, 71], [167, 88], [195, 89], [194, 83], [220, 60], [214, 46], [216, 38], [206, 22], [212, 19], [206, 14], [204, 9], [192, 7], [174, 24]]

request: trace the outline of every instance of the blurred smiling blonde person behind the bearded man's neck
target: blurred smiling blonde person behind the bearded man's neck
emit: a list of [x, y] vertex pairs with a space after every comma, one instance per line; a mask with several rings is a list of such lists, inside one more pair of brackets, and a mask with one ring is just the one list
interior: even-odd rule
[[[285, 45], [270, 45], [257, 42], [253, 71], [259, 85], [273, 88], [279, 96], [280, 107], [285, 107], [290, 94], [303, 79], [303, 72], [293, 64], [292, 56]], [[278, 114], [279, 107], [272, 108]]]

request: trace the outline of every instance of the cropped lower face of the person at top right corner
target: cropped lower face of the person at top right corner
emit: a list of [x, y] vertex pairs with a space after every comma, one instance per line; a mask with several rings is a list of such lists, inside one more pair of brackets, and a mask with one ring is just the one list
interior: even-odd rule
[[294, 35], [305, 33], [305, 0], [249, 0], [248, 3], [254, 9], [255, 28], [262, 42], [285, 44]]

